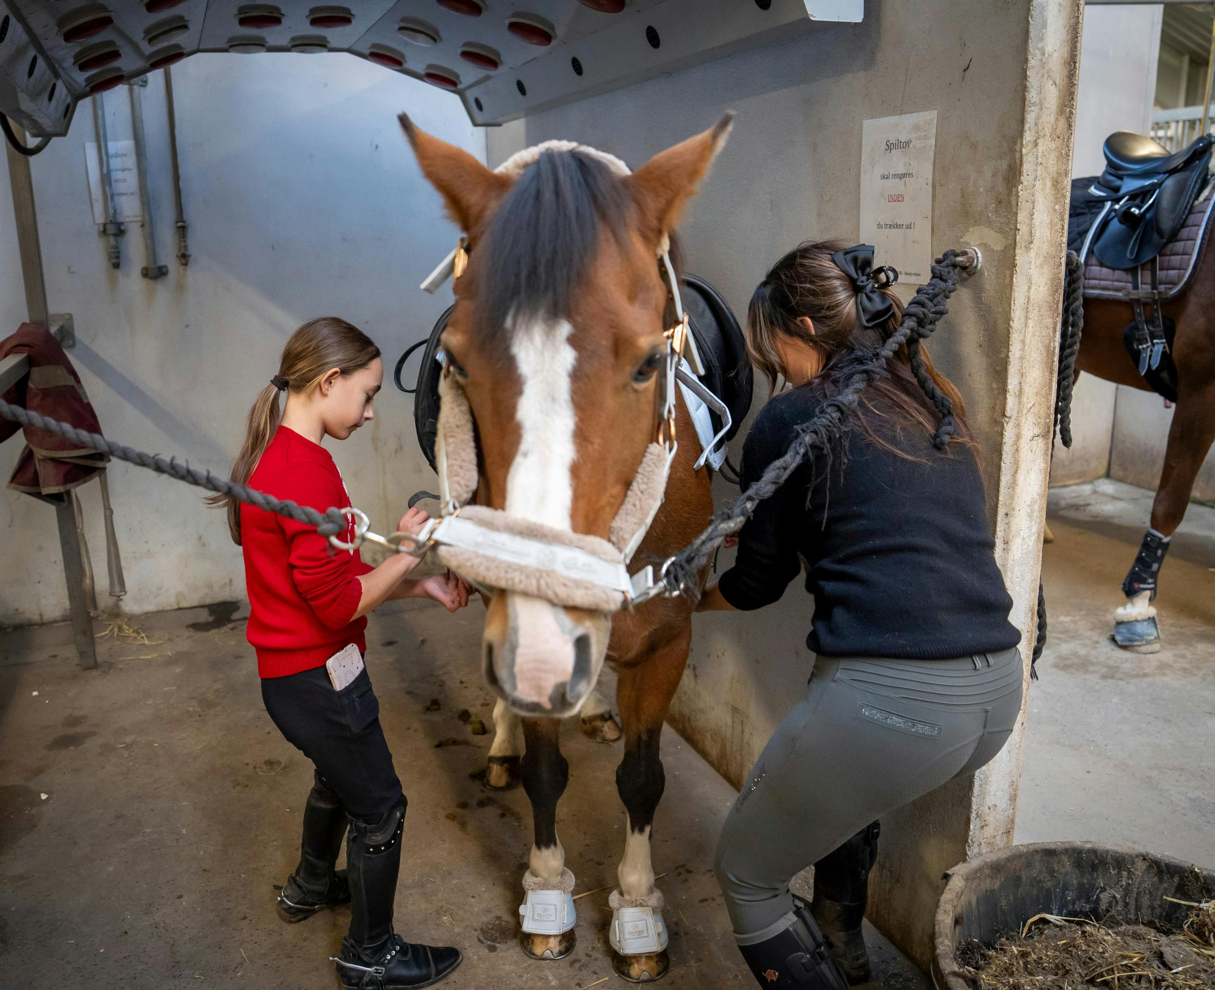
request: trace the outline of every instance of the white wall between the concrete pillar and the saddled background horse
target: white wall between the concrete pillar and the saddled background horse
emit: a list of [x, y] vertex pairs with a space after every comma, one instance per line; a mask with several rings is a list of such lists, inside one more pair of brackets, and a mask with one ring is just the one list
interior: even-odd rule
[[[1160, 4], [1085, 7], [1072, 175], [1101, 172], [1101, 147], [1114, 131], [1148, 132], [1163, 11]], [[1117, 387], [1091, 374], [1080, 375], [1072, 398], [1072, 447], [1056, 446], [1052, 485], [1104, 477]]]

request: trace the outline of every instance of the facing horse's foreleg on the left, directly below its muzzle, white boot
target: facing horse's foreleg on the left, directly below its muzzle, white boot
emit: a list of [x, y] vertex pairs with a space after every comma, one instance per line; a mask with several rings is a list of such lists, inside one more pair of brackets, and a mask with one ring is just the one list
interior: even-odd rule
[[524, 791], [532, 805], [533, 837], [524, 904], [519, 909], [519, 941], [532, 958], [559, 960], [573, 951], [573, 873], [556, 837], [556, 802], [565, 791], [570, 764], [561, 756], [559, 719], [524, 719], [526, 752], [521, 762]]

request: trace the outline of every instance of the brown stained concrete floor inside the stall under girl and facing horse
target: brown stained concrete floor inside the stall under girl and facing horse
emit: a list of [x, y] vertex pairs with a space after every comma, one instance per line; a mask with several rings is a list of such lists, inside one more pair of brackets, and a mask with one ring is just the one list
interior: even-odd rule
[[[405, 607], [401, 607], [401, 606]], [[242, 611], [213, 606], [141, 616], [151, 644], [100, 641], [102, 669], [77, 667], [66, 626], [10, 630], [0, 644], [0, 986], [43, 990], [333, 988], [326, 960], [349, 913], [298, 926], [275, 913], [275, 883], [298, 858], [305, 758], [261, 706]], [[521, 790], [491, 794], [473, 775], [492, 698], [471, 662], [482, 611], [417, 603], [380, 610], [368, 669], [397, 771], [411, 797], [397, 929], [458, 945], [462, 988], [625, 986], [611, 971], [608, 894], [623, 850], [620, 745], [566, 726], [570, 787], [559, 810], [577, 877], [578, 947], [537, 963], [518, 949], [520, 879], [531, 841]], [[608, 685], [612, 691], [614, 685]], [[428, 712], [437, 700], [439, 709]], [[446, 745], [445, 745], [446, 743]], [[746, 986], [712, 875], [734, 791], [674, 732], [654, 862], [667, 896], [665, 986]], [[608, 889], [599, 889], [608, 888]], [[881, 984], [926, 986], [875, 937]], [[604, 983], [605, 981], [605, 983]]]

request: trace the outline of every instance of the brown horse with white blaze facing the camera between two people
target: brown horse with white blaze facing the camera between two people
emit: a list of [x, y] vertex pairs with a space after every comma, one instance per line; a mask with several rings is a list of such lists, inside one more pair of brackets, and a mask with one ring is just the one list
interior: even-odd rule
[[[525, 524], [609, 537], [660, 429], [672, 317], [657, 259], [729, 120], [632, 175], [559, 149], [512, 176], [402, 117], [423, 174], [468, 239], [442, 346], [475, 422], [477, 504]], [[666, 500], [637, 561], [688, 544], [713, 509], [710, 473], [694, 470], [699, 449], [682, 401], [676, 436], [683, 442]], [[556, 836], [567, 779], [559, 718], [580, 711], [609, 658], [626, 740], [616, 786], [629, 826], [611, 898], [614, 964], [632, 980], [667, 969], [650, 826], [663, 790], [659, 737], [688, 660], [691, 609], [685, 598], [655, 598], [610, 615], [519, 592], [490, 596], [482, 669], [501, 698], [490, 782], [509, 783], [521, 722], [519, 769], [535, 820], [520, 909], [529, 956], [560, 958], [573, 949], [573, 877]]]

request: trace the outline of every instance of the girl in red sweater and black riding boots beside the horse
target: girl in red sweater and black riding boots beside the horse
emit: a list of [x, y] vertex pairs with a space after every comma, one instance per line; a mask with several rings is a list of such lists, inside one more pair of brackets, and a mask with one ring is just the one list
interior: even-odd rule
[[[335, 317], [300, 327], [249, 413], [232, 480], [324, 511], [350, 505], [326, 436], [345, 440], [373, 418], [384, 366], [371, 339]], [[279, 413], [278, 394], [287, 392]], [[358, 550], [335, 550], [315, 528], [226, 499], [232, 538], [244, 550], [249, 643], [261, 696], [287, 740], [315, 764], [304, 805], [300, 861], [278, 899], [284, 921], [350, 904], [350, 933], [333, 957], [344, 988], [429, 986], [460, 962], [456, 949], [412, 945], [392, 930], [406, 799], [362, 663], [366, 615], [389, 599], [429, 598], [456, 611], [468, 589], [456, 578], [419, 581], [396, 554], [379, 567]], [[397, 530], [417, 532], [412, 509]], [[354, 522], [344, 537], [351, 541]], [[334, 870], [349, 825], [345, 876]]]

